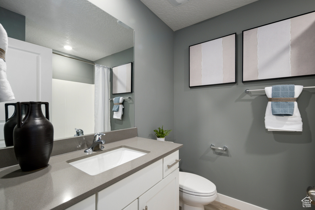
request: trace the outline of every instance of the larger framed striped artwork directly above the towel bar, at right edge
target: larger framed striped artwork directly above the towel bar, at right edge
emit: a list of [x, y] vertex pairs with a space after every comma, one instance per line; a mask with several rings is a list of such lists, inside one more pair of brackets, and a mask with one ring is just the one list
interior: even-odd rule
[[243, 82], [315, 74], [315, 12], [243, 31]]

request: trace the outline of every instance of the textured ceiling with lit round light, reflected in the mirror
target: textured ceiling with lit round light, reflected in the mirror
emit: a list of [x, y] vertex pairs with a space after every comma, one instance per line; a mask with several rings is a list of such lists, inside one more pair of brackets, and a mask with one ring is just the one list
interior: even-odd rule
[[0, 7], [26, 16], [26, 42], [90, 61], [134, 46], [134, 30], [86, 0], [1, 0]]

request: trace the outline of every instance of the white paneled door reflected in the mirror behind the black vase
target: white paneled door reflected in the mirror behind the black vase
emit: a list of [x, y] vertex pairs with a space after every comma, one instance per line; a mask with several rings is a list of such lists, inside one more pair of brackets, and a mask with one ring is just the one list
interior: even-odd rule
[[[50, 117], [52, 110], [52, 49], [9, 37], [5, 58], [7, 78], [15, 100], [0, 102], [0, 141], [4, 139], [5, 103], [49, 102]], [[14, 108], [13, 106], [9, 108], [10, 117]], [[45, 112], [44, 108], [43, 111]]]

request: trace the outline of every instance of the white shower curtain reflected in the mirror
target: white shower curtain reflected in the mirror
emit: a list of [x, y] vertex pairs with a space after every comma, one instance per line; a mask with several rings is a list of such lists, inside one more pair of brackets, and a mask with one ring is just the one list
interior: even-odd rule
[[94, 132], [111, 131], [110, 68], [95, 64]]

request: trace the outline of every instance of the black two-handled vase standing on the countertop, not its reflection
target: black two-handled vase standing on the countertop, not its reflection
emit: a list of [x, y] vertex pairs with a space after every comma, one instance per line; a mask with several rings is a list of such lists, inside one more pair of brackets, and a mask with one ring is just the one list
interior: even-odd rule
[[[27, 105], [25, 117], [21, 105]], [[44, 117], [42, 104], [45, 104]], [[53, 149], [54, 127], [49, 122], [48, 102], [17, 102], [17, 125], [13, 130], [16, 159], [22, 171], [35, 171], [48, 165]]]

